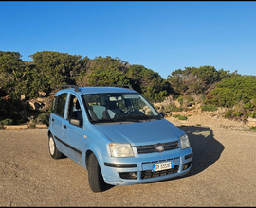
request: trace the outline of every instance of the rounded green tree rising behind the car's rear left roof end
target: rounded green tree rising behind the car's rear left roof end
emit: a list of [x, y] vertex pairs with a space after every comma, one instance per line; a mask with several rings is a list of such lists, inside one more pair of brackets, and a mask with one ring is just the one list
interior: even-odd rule
[[75, 78], [84, 70], [82, 57], [52, 51], [36, 52], [30, 56], [33, 61], [31, 78], [34, 90], [49, 95], [64, 84], [75, 84]]

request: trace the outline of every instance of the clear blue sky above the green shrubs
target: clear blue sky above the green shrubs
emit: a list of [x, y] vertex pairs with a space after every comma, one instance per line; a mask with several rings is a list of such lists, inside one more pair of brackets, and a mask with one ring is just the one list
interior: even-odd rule
[[168, 78], [184, 67], [256, 75], [254, 1], [1, 1], [0, 50], [110, 56]]

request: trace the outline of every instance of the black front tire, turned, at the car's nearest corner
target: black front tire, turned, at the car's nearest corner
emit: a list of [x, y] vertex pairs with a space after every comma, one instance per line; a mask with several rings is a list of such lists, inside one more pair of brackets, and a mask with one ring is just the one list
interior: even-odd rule
[[90, 154], [88, 159], [88, 181], [93, 192], [102, 192], [106, 187], [101, 174], [101, 167], [95, 154]]

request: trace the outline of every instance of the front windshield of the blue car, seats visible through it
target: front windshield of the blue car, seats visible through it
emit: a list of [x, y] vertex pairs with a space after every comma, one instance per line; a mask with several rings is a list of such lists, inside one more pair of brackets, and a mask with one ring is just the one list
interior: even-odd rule
[[82, 95], [93, 123], [145, 122], [161, 119], [155, 108], [139, 94]]

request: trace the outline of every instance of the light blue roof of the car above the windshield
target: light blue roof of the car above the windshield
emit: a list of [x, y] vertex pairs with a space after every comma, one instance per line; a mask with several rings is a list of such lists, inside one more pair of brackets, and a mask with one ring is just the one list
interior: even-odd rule
[[[119, 87], [79, 87], [79, 92], [81, 92], [83, 95], [89, 95], [89, 94], [110, 94], [110, 93], [137, 93], [135, 90], [130, 90], [128, 88], [119, 88]], [[56, 93], [56, 95], [59, 95], [64, 92], [76, 92], [74, 88], [67, 88], [60, 90]]]

